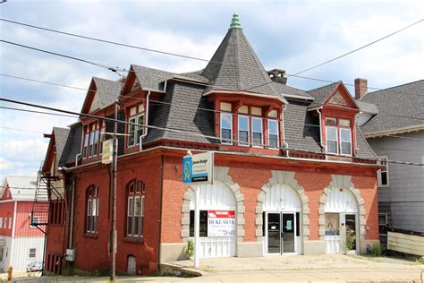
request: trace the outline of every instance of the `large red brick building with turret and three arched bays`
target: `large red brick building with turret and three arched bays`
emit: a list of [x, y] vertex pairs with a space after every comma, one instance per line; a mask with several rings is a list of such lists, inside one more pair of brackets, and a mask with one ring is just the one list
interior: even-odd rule
[[[381, 166], [356, 127], [360, 107], [341, 81], [305, 91], [287, 86], [282, 70], [266, 72], [234, 15], [205, 69], [132, 64], [123, 81], [93, 78], [81, 110], [92, 116], [71, 126], [60, 156], [50, 142], [45, 163], [52, 176], [47, 168], [60, 160], [70, 192], [66, 210], [56, 210], [75, 252], [63, 268], [109, 267], [111, 172], [100, 157], [114, 123], [93, 116], [114, 117], [115, 99], [118, 119], [140, 124], [118, 125], [118, 271], [145, 274], [186, 258], [194, 209], [193, 188], [182, 185], [187, 150], [215, 152], [215, 183], [200, 187], [201, 257], [342, 253], [346, 229], [357, 253], [379, 243]], [[215, 210], [235, 220], [229, 235], [208, 227]]]

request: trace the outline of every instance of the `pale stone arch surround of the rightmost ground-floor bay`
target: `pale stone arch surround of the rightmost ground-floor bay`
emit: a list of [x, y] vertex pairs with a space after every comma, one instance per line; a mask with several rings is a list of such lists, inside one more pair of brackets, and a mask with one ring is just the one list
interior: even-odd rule
[[356, 199], [358, 205], [359, 214], [359, 227], [360, 227], [360, 240], [365, 239], [365, 202], [360, 195], [360, 190], [355, 188], [352, 184], [352, 176], [347, 175], [332, 175], [330, 184], [324, 189], [321, 197], [319, 198], [319, 209], [318, 209], [318, 228], [319, 237], [321, 240], [325, 240], [326, 236], [326, 218], [325, 218], [325, 207], [326, 199], [328, 194], [333, 189], [347, 189], [349, 190]]

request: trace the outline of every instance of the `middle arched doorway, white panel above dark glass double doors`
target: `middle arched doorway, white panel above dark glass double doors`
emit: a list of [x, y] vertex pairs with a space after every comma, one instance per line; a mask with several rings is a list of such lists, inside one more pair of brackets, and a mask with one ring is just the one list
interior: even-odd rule
[[266, 254], [301, 253], [301, 198], [287, 184], [275, 184], [265, 195], [263, 222]]

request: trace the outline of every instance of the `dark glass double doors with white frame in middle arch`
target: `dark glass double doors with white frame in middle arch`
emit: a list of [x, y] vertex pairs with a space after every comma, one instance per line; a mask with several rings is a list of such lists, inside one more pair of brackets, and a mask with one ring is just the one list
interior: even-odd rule
[[295, 220], [294, 213], [267, 213], [267, 253], [295, 252]]

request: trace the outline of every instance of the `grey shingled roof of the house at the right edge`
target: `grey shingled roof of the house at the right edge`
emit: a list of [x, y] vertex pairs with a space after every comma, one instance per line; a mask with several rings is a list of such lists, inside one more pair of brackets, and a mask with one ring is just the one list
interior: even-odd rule
[[378, 114], [361, 126], [364, 133], [424, 125], [424, 80], [369, 92], [361, 102], [378, 108]]

